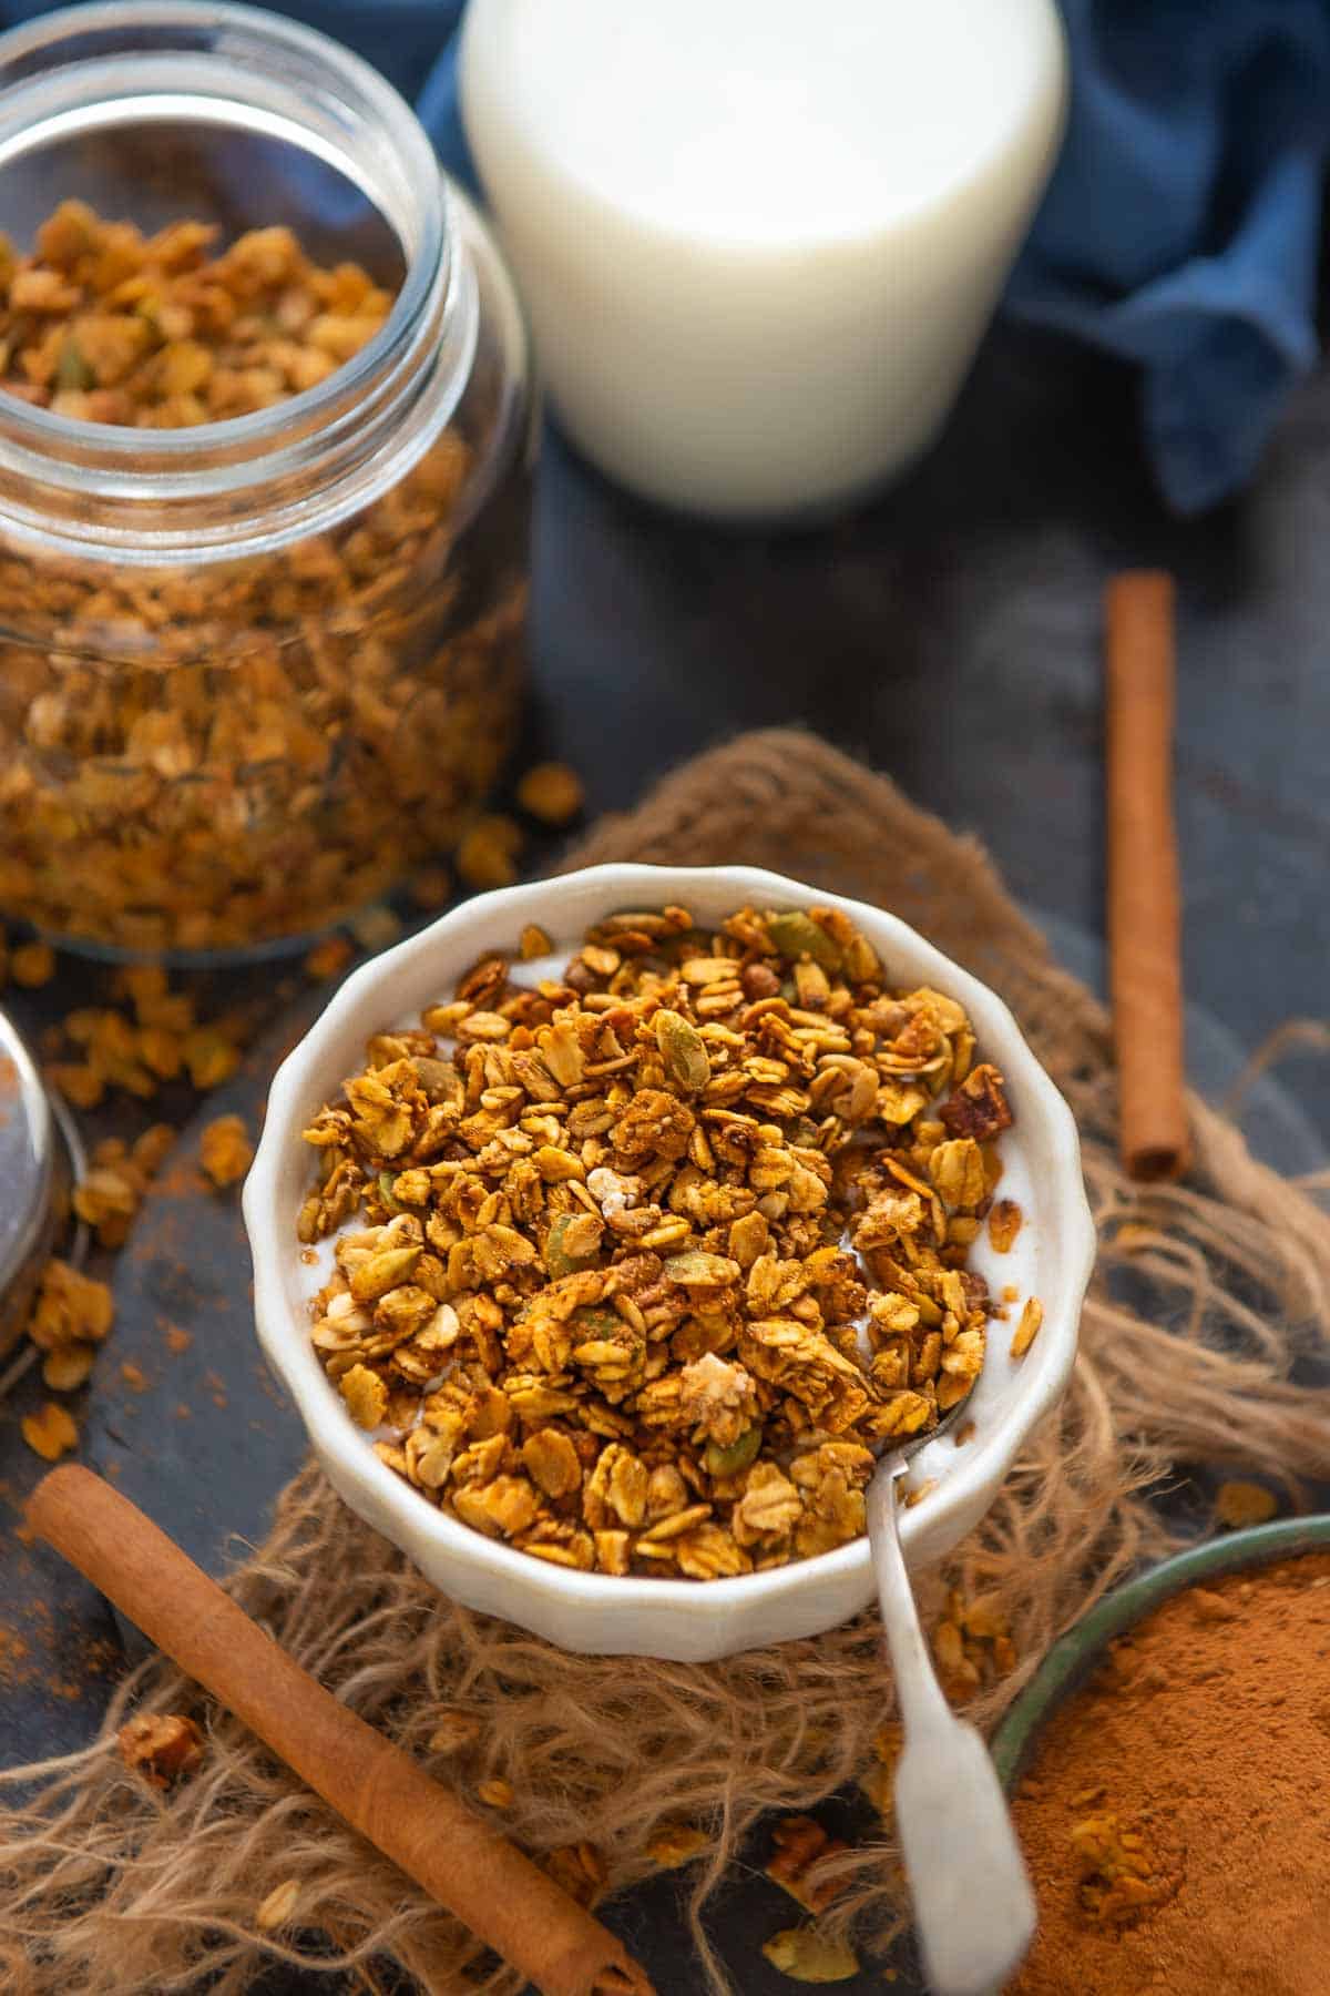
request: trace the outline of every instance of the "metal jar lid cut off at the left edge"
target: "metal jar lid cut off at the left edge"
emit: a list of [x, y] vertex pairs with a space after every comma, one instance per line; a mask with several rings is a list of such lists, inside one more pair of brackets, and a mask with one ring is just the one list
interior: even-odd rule
[[0, 1359], [22, 1337], [38, 1275], [68, 1226], [70, 1158], [64, 1116], [0, 1012]]

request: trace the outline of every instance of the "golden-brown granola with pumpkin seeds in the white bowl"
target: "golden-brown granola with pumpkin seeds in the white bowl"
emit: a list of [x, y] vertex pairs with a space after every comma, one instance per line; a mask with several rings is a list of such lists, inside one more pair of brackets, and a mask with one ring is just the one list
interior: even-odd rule
[[620, 914], [518, 964], [371, 1038], [305, 1132], [329, 1377], [423, 1497], [556, 1565], [843, 1545], [873, 1447], [983, 1365], [1001, 1076], [830, 908]]

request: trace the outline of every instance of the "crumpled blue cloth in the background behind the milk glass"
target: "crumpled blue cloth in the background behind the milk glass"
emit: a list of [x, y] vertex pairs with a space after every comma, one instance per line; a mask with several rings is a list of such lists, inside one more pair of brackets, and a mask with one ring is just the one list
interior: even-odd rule
[[[475, 186], [457, 106], [463, 4], [289, 0], [285, 12], [377, 62]], [[1007, 305], [1139, 363], [1161, 491], [1196, 513], [1252, 477], [1316, 359], [1330, 0], [1061, 4], [1071, 126]], [[0, 0], [0, 22], [52, 10]]]

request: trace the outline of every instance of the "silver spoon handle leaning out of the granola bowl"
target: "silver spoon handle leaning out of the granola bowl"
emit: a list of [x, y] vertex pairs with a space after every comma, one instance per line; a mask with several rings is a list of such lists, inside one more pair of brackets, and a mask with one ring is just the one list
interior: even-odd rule
[[1035, 1894], [983, 1737], [937, 1683], [895, 1525], [895, 1477], [891, 1463], [873, 1477], [867, 1531], [905, 1731], [895, 1824], [915, 1930], [933, 1996], [995, 1996], [1033, 1940]]

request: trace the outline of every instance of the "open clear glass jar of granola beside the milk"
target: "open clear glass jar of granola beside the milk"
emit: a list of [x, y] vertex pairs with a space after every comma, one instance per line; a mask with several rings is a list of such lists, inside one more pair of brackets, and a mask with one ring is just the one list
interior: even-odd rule
[[397, 92], [253, 8], [0, 38], [0, 190], [20, 240], [64, 200], [281, 226], [397, 293], [253, 413], [130, 427], [0, 393], [0, 910], [128, 956], [303, 940], [455, 842], [510, 745], [534, 435], [512, 285]]

